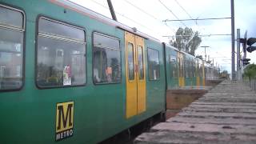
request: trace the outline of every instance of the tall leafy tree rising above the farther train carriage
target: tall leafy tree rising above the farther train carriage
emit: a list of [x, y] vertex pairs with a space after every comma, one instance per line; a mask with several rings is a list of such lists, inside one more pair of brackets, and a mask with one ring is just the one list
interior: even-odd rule
[[191, 28], [182, 27], [178, 28], [175, 34], [175, 38], [170, 40], [170, 45], [177, 47], [178, 50], [185, 51], [191, 55], [194, 55], [195, 50], [202, 42], [202, 39], [198, 36], [198, 31], [193, 31]]

